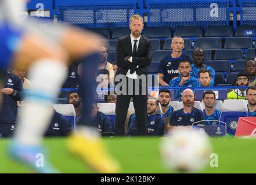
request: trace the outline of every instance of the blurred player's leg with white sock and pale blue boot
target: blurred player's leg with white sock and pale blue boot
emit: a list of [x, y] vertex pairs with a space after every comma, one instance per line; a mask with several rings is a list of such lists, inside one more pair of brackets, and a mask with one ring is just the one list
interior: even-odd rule
[[62, 86], [66, 77], [65, 56], [66, 53], [51, 42], [25, 34], [13, 57], [14, 65], [29, 67], [28, 77], [33, 87], [26, 97], [27, 105], [20, 108], [21, 117], [10, 153], [16, 160], [42, 173], [56, 172], [46, 156], [44, 166], [37, 166], [36, 156], [45, 154], [41, 149], [41, 140], [52, 116], [49, 107], [57, 97], [57, 88]]

